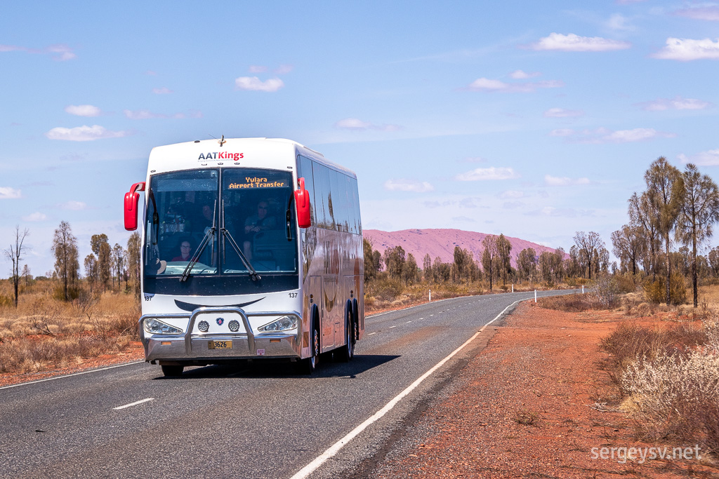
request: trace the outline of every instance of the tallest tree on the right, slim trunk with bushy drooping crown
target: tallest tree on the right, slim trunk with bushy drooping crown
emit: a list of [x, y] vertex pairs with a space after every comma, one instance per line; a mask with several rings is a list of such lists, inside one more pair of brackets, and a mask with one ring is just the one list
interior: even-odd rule
[[669, 283], [672, 279], [672, 261], [669, 246], [672, 243], [672, 232], [677, 227], [677, 218], [684, 201], [684, 179], [682, 173], [673, 167], [667, 159], [659, 157], [654, 160], [644, 174], [647, 192], [657, 213], [657, 230], [664, 238], [667, 253], [667, 304], [671, 302]]

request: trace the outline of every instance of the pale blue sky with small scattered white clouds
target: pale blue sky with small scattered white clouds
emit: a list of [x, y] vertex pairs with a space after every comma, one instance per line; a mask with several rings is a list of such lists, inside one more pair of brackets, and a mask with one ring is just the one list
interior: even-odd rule
[[92, 234], [124, 246], [150, 149], [210, 135], [354, 169], [365, 228], [567, 250], [611, 249], [659, 156], [719, 179], [719, 2], [70, 5], [0, 16], [0, 244], [28, 228], [35, 275], [61, 220], [81, 262]]

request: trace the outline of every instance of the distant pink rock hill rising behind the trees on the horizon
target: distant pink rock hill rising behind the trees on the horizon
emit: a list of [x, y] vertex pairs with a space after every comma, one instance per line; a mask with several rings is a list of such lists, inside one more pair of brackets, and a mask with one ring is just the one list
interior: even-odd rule
[[[481, 261], [482, 240], [487, 233], [476, 233], [475, 231], [462, 231], [452, 229], [428, 229], [428, 230], [403, 230], [403, 231], [380, 231], [364, 230], [362, 236], [370, 240], [372, 248], [384, 254], [385, 249], [402, 246], [407, 254], [413, 254], [418, 266], [422, 267], [424, 255], [429, 253], [432, 261], [439, 256], [442, 262], [454, 262], [454, 246], [468, 249], [475, 255], [475, 261]], [[517, 255], [525, 248], [533, 248], [537, 256], [542, 251], [554, 252], [555, 248], [541, 246], [531, 241], [520, 238], [505, 236], [512, 244], [512, 266], [517, 264]], [[569, 257], [569, 255], [565, 256]]]

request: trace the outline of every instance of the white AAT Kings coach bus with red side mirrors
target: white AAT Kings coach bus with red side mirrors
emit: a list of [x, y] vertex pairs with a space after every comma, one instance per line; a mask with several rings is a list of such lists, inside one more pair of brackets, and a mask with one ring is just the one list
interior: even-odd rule
[[[145, 361], [283, 358], [311, 373], [354, 355], [365, 330], [357, 177], [286, 139], [156, 147], [124, 199], [142, 221]], [[328, 355], [323, 355], [327, 357]]]

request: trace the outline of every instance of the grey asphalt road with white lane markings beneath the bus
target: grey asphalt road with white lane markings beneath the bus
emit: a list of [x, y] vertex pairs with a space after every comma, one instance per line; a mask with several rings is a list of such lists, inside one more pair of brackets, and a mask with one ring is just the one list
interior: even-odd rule
[[[530, 297], [462, 297], [367, 317], [354, 359], [321, 363], [313, 376], [256, 364], [188, 368], [168, 379], [159, 366], [134, 363], [2, 388], [0, 477], [290, 478]], [[356, 475], [438, 394], [466, 350], [309, 477]]]

